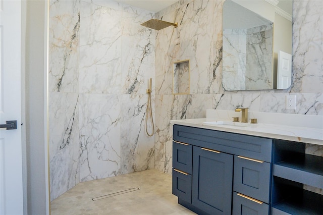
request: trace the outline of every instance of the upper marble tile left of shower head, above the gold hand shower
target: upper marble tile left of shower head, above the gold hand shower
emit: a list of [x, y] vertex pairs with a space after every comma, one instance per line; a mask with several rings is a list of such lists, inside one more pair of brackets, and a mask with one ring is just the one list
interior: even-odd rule
[[155, 77], [156, 31], [140, 24], [150, 18], [123, 13], [122, 93], [145, 94], [147, 81]]

